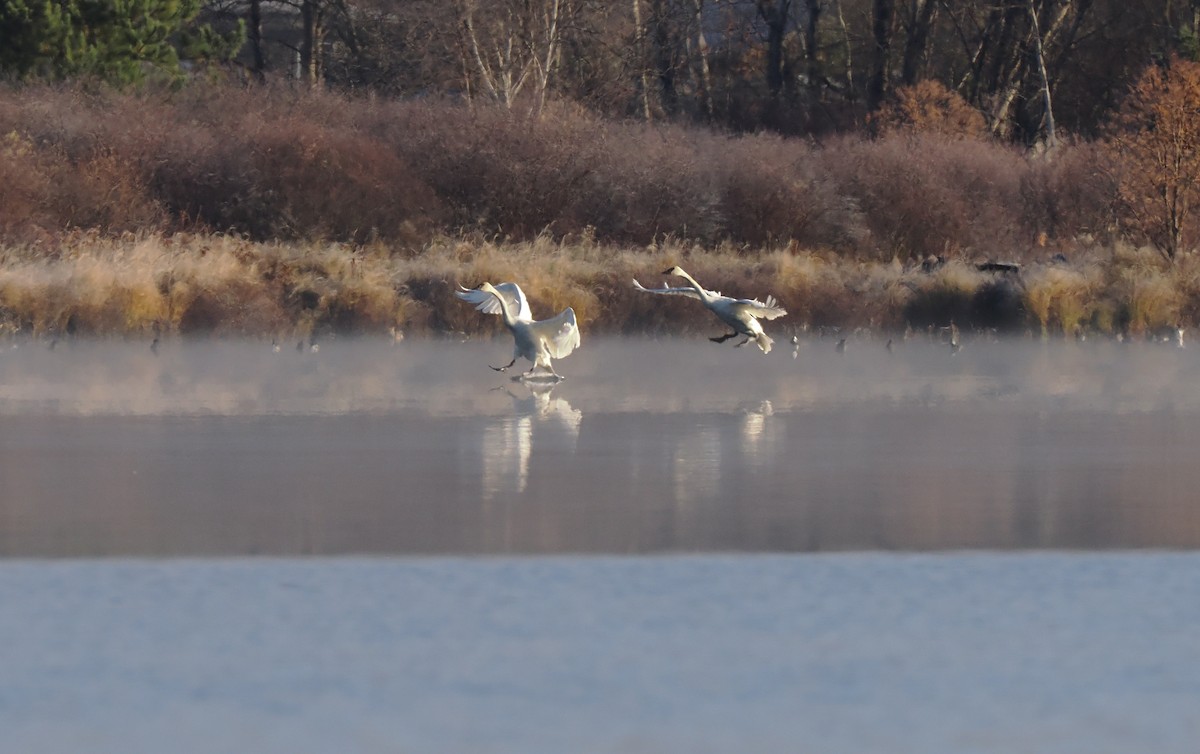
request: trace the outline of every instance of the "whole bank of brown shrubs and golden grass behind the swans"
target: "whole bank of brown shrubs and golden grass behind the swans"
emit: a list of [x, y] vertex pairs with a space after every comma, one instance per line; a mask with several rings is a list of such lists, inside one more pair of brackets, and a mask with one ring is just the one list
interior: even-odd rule
[[[496, 323], [455, 285], [515, 280], [592, 331], [678, 331], [630, 287], [674, 263], [775, 295], [780, 328], [1194, 324], [1200, 66], [1129, 102], [1110, 139], [1031, 152], [937, 86], [821, 143], [554, 103], [4, 88], [0, 328], [458, 333]], [[1188, 138], [1156, 143], [1169, 122]]]

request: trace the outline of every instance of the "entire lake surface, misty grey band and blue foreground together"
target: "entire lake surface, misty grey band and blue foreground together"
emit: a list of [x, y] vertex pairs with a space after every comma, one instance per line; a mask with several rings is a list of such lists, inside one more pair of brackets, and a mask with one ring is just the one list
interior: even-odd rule
[[0, 750], [1200, 740], [1200, 348], [19, 345]]

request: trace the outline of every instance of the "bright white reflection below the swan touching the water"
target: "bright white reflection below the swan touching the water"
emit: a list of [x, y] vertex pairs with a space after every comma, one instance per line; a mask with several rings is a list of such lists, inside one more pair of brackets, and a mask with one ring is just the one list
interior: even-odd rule
[[[505, 388], [512, 414], [484, 429], [482, 486], [485, 499], [502, 492], [524, 492], [535, 439], [548, 441], [547, 451], [575, 453], [583, 412], [556, 397], [554, 385], [524, 383], [528, 395]], [[545, 445], [545, 442], [539, 442]]]

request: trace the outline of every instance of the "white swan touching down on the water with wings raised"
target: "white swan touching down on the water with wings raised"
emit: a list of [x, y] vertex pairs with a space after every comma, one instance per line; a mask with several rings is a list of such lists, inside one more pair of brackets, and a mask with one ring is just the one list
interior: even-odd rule
[[463, 288], [455, 292], [463, 301], [474, 304], [475, 309], [487, 315], [500, 315], [504, 325], [512, 333], [512, 360], [504, 366], [491, 366], [498, 372], [508, 370], [524, 358], [533, 361], [526, 376], [536, 370], [548, 371], [553, 377], [562, 378], [550, 365], [550, 360], [562, 359], [580, 347], [580, 327], [575, 322], [575, 310], [568, 306], [557, 317], [535, 321], [529, 310], [521, 286], [516, 283], [481, 283], [478, 288]]

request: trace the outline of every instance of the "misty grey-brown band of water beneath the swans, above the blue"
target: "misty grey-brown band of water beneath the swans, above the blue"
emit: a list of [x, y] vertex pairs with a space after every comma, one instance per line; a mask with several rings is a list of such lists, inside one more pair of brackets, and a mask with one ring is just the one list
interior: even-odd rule
[[1200, 349], [491, 351], [5, 349], [0, 555], [1200, 545]]

